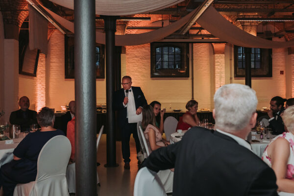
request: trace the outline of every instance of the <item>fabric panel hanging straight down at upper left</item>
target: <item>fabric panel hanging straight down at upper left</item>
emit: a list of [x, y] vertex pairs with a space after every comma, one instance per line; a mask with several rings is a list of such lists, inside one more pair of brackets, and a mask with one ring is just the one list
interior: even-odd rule
[[28, 5], [29, 12], [29, 49], [40, 49], [47, 55], [48, 21], [32, 6]]

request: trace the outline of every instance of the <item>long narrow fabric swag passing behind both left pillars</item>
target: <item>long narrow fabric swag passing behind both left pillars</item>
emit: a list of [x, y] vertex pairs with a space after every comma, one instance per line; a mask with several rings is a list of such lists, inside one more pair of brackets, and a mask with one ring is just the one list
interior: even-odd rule
[[[49, 12], [49, 14], [60, 25], [63, 25], [65, 28], [67, 28], [71, 32], [74, 32], [74, 27], [73, 27], [72, 22], [53, 13], [52, 11], [47, 9], [46, 7], [44, 7], [44, 9], [47, 12]], [[184, 16], [180, 20], [172, 23], [171, 25], [162, 27], [162, 28], [154, 30], [154, 31], [140, 33], [140, 34], [115, 35], [115, 45], [116, 46], [136, 46], [136, 45], [147, 44], [147, 43], [151, 43], [151, 42], [155, 42], [160, 39], [163, 39], [166, 36], [172, 34], [174, 31], [178, 30], [183, 25], [185, 25], [195, 12], [196, 12], [196, 10], [194, 10], [193, 12]], [[105, 44], [105, 33], [96, 32], [96, 42], [98, 44]]]

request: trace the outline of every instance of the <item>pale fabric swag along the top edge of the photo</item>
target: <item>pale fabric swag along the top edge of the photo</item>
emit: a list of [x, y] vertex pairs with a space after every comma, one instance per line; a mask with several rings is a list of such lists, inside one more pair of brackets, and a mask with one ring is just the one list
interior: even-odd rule
[[[58, 5], [73, 9], [73, 0], [50, 0]], [[170, 7], [183, 0], [96, 0], [96, 14], [125, 16], [151, 12]]]

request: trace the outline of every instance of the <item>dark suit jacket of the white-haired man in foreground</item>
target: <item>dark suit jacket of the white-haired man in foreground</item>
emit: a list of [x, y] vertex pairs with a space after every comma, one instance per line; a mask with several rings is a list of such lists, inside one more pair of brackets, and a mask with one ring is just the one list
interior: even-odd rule
[[172, 196], [277, 196], [266, 163], [231, 137], [201, 127], [152, 151], [142, 165], [155, 172], [174, 168]]

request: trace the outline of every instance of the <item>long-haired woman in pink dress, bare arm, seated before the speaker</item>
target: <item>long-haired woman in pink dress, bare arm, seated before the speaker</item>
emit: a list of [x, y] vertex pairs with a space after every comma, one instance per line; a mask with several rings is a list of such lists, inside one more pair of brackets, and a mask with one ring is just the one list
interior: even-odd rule
[[170, 143], [162, 138], [162, 135], [155, 123], [155, 115], [151, 105], [143, 107], [142, 128], [147, 141], [149, 151], [156, 150], [160, 147], [168, 146]]

